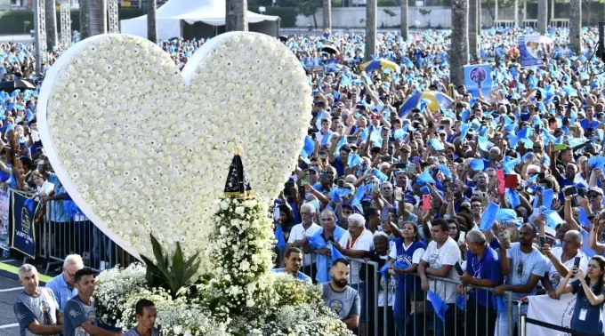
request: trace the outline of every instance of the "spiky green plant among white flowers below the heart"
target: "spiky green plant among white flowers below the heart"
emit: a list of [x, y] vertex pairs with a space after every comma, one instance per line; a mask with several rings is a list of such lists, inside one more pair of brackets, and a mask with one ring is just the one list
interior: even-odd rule
[[[198, 272], [200, 263], [200, 260], [198, 260], [199, 252], [191, 256], [189, 260], [184, 260], [181, 244], [177, 242], [173, 257], [170, 258], [164, 252], [162, 245], [159, 244], [157, 239], [153, 235], [150, 236], [153, 255], [156, 257], [157, 264], [149, 260], [148, 257], [141, 255], [141, 259], [147, 267], [145, 279], [151, 288], [164, 288], [173, 297], [176, 297], [176, 294], [182, 287], [195, 283], [195, 281], [192, 281], [192, 278]], [[171, 259], [172, 267], [170, 265]], [[196, 260], [198, 261], [196, 262]]]

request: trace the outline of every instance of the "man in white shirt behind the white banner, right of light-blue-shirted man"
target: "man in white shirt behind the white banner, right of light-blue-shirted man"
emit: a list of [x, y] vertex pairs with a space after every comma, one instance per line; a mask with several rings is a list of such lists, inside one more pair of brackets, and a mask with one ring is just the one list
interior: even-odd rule
[[553, 287], [557, 287], [561, 279], [568, 275], [571, 268], [574, 268], [576, 258], [580, 259], [579, 268], [584, 274], [588, 269], [588, 258], [584, 252], [580, 251], [583, 244], [583, 238], [579, 231], [569, 230], [563, 237], [563, 245], [551, 250], [551, 246], [545, 244], [542, 247], [542, 253], [549, 260], [548, 277]]

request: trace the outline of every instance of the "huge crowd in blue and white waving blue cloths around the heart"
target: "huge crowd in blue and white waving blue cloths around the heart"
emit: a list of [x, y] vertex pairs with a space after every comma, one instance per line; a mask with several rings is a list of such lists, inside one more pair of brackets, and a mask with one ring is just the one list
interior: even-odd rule
[[[578, 297], [571, 327], [602, 334], [605, 76], [595, 55], [598, 34], [585, 28], [583, 51], [574, 54], [568, 32], [550, 28], [553, 44], [544, 65], [522, 68], [517, 44], [528, 32], [483, 31], [480, 60], [473, 61], [492, 65], [494, 84], [486, 96], [462, 84], [451, 89], [447, 31], [420, 31], [407, 41], [396, 33], [379, 34], [375, 58], [395, 62], [400, 71], [369, 73], [359, 68], [367, 59], [361, 34], [285, 38], [307, 71], [314, 100], [299, 164], [275, 202], [283, 257], [275, 271], [323, 284], [327, 306], [359, 335], [373, 334], [375, 324], [379, 334], [386, 328], [388, 334], [423, 335], [424, 325], [433, 324], [439, 335], [508, 334], [519, 323], [512, 302], [539, 294], [557, 300], [569, 292]], [[182, 68], [204, 42], [160, 45]], [[338, 52], [326, 51], [328, 45]], [[31, 46], [0, 49], [4, 80], [44, 80], [33, 75]], [[44, 68], [60, 52], [50, 53]], [[405, 104], [427, 91], [448, 94], [453, 102], [440, 108], [424, 100]], [[0, 182], [56, 202], [50, 220], [62, 226], [84, 215], [69, 203], [44, 156], [36, 96], [27, 91], [2, 97]], [[10, 145], [12, 133], [19, 150]], [[12, 161], [15, 152], [18, 159]], [[70, 233], [70, 239], [79, 234]], [[61, 255], [69, 253], [60, 241], [55, 245]], [[77, 318], [93, 311], [94, 284], [84, 267], [88, 261], [79, 259], [74, 267], [74, 259], [66, 258], [60, 276], [44, 288], [37, 285], [35, 268], [20, 269], [24, 292], [15, 314], [22, 334], [38, 334], [40, 328], [116, 334]], [[378, 271], [386, 287], [375, 282]], [[487, 312], [477, 324], [464, 324], [466, 329], [456, 314], [460, 297], [467, 310]], [[511, 304], [509, 321], [497, 312]], [[148, 326], [151, 306], [137, 306], [137, 317], [146, 316]], [[373, 309], [386, 314], [388, 323], [375, 321]], [[145, 328], [137, 332], [149, 334]]]

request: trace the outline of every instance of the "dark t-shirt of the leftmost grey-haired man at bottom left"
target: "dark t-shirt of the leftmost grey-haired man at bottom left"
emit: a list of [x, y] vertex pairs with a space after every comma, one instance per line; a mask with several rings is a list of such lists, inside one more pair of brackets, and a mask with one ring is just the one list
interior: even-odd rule
[[57, 324], [57, 312], [60, 312], [59, 303], [57, 303], [54, 293], [44, 287], [40, 287], [40, 295], [38, 296], [21, 292], [15, 300], [13, 309], [19, 321], [20, 336], [35, 336], [28, 329], [28, 325], [34, 321], [42, 325]]

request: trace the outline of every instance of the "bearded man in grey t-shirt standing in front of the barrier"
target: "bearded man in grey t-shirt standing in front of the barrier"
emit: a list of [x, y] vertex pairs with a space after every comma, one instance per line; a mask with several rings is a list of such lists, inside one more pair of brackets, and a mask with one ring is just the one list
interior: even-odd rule
[[349, 330], [355, 330], [359, 326], [361, 304], [358, 292], [347, 285], [351, 272], [349, 265], [349, 260], [344, 258], [334, 260], [330, 269], [332, 281], [323, 284], [322, 299], [347, 324]]

